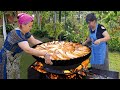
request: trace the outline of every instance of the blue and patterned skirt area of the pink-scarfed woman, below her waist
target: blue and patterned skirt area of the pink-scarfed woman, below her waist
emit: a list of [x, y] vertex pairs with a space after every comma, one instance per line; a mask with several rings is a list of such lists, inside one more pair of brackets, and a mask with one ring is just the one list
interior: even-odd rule
[[13, 52], [3, 48], [0, 52], [0, 79], [20, 79], [21, 53], [13, 56]]

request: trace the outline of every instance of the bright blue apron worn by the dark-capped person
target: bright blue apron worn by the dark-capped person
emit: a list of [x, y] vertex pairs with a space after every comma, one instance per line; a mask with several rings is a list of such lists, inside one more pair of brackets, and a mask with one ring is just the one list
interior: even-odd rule
[[90, 33], [90, 38], [92, 40], [92, 46], [91, 46], [91, 58], [90, 63], [91, 64], [104, 64], [105, 56], [106, 56], [106, 42], [101, 42], [98, 45], [94, 44], [94, 41], [97, 40], [96, 33], [97, 33], [97, 27], [95, 33]]

